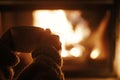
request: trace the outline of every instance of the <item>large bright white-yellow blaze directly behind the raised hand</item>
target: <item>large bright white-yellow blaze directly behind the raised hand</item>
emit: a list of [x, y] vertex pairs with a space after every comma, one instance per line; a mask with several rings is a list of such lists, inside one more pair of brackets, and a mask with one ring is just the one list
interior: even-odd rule
[[[80, 11], [71, 12], [71, 19], [79, 17], [82, 23], [78, 23], [73, 30], [72, 22], [67, 19], [64, 10], [36, 10], [33, 12], [34, 26], [40, 26], [44, 29], [49, 28], [54, 34], [60, 36], [62, 43], [61, 56], [74, 56], [80, 57], [83, 53], [83, 46], [76, 47], [75, 44], [80, 43], [82, 40], [90, 35], [90, 29], [87, 22], [80, 17]], [[74, 22], [74, 21], [73, 21]], [[74, 44], [70, 50], [66, 49], [66, 44]]]

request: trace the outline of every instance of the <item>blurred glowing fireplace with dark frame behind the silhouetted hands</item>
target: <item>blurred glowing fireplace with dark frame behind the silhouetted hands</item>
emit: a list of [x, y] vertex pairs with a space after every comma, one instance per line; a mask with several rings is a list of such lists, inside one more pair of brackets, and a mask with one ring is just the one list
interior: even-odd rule
[[114, 0], [2, 1], [0, 6], [2, 33], [15, 25], [34, 25], [59, 35], [66, 78], [116, 76]]

